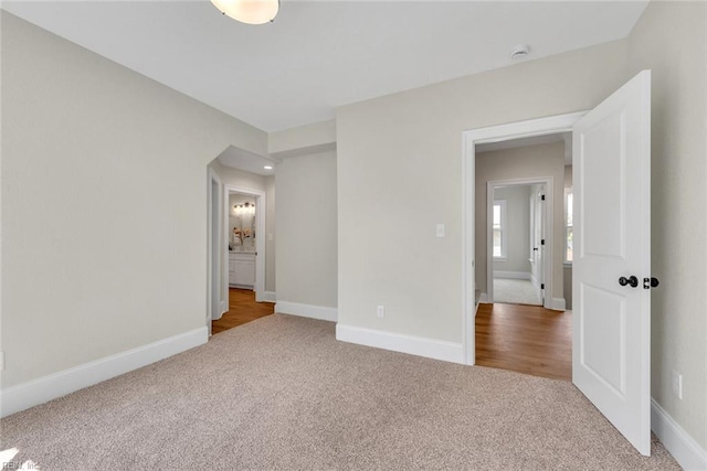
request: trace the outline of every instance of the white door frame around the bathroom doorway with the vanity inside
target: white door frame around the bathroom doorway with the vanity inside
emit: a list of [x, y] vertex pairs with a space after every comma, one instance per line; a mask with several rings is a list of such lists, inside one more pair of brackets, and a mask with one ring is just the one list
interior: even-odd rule
[[[225, 251], [225, 260], [223, 264], [224, 270], [221, 271], [223, 277], [224, 292], [229, 292], [229, 250], [225, 240], [229, 239], [229, 195], [231, 193], [247, 194], [255, 199], [255, 301], [265, 301], [265, 216], [266, 216], [266, 200], [265, 192], [261, 190], [253, 190], [243, 186], [223, 185], [223, 247]], [[225, 272], [225, 275], [224, 275]]]

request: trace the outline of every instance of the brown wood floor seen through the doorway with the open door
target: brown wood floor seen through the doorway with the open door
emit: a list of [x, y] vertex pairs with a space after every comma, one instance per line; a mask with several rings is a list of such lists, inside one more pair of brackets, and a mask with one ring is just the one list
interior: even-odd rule
[[479, 304], [476, 364], [571, 381], [571, 312], [536, 306]]

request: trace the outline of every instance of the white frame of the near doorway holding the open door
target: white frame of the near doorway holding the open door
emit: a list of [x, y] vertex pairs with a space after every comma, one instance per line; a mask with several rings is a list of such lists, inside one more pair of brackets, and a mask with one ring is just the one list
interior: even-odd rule
[[[476, 363], [476, 250], [475, 250], [475, 191], [476, 191], [476, 144], [500, 142], [510, 139], [570, 132], [574, 124], [588, 111], [570, 113], [546, 118], [529, 119], [505, 125], [471, 129], [462, 132], [462, 175], [464, 200], [462, 203], [463, 228], [463, 350], [467, 365]], [[577, 223], [576, 223], [577, 225]], [[577, 228], [576, 228], [577, 231]], [[574, 282], [572, 280], [572, 282]]]

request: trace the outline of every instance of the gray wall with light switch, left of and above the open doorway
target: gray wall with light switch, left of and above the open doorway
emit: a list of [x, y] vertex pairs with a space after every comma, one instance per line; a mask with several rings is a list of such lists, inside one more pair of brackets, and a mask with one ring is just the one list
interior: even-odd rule
[[339, 322], [461, 343], [462, 133], [590, 109], [625, 65], [612, 42], [338, 108]]

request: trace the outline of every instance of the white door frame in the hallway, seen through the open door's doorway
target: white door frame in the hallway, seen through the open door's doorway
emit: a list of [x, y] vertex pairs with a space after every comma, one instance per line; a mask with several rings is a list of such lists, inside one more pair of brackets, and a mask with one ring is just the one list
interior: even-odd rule
[[[528, 179], [516, 180], [495, 180], [487, 182], [486, 185], [486, 296], [488, 302], [494, 302], [494, 240], [493, 240], [493, 212], [494, 212], [494, 190], [500, 186], [529, 186], [535, 184], [545, 185], [545, 201], [555, 203], [555, 193], [552, 188], [552, 176], [537, 176]], [[552, 206], [555, 210], [555, 206]], [[529, 211], [529, 210], [528, 210]], [[546, 309], [552, 308], [552, 297], [548, 297], [548, 292], [552, 292], [553, 278], [552, 278], [552, 229], [553, 224], [553, 211], [545, 211], [542, 213], [542, 231], [546, 239], [546, 249], [542, 257], [542, 282], [545, 283], [545, 299], [542, 307]]]

